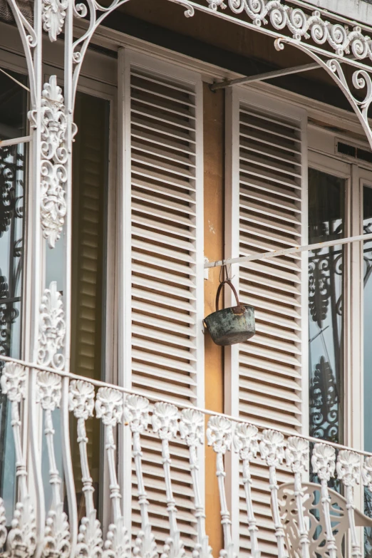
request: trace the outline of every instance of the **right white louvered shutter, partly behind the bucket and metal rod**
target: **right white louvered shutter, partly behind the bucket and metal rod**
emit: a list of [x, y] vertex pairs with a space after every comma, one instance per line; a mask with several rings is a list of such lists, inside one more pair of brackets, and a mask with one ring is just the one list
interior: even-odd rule
[[[304, 113], [252, 93], [240, 97], [237, 91], [229, 95], [227, 103], [233, 149], [229, 167], [231, 254], [260, 254], [306, 244]], [[307, 374], [305, 257], [264, 259], [233, 270], [240, 300], [255, 308], [257, 333], [231, 351], [232, 412], [267, 428], [294, 433], [306, 433], [307, 423], [302, 408], [303, 369], [304, 377]], [[264, 555], [277, 555], [268, 470], [256, 465], [252, 473], [260, 548]], [[289, 479], [279, 472], [278, 480]], [[240, 554], [248, 555], [242, 484], [238, 498]], [[237, 527], [236, 516], [234, 520]]]

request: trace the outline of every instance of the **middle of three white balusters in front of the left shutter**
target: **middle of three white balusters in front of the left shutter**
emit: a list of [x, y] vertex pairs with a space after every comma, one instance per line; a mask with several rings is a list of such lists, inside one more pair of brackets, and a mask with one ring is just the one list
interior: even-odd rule
[[170, 451], [169, 443], [175, 438], [178, 430], [179, 413], [175, 405], [170, 403], [155, 403], [153, 416], [153, 430], [162, 440], [162, 467], [165, 476], [165, 492], [167, 497], [167, 512], [169, 516], [170, 536], [165, 541], [161, 558], [184, 558], [186, 553], [180, 530], [177, 527], [177, 508], [172, 492], [172, 479], [170, 476]]

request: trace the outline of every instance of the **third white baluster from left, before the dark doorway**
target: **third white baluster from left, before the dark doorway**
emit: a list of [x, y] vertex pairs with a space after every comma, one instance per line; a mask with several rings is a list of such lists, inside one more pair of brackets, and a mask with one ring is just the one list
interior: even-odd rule
[[86, 501], [86, 517], [81, 520], [76, 556], [100, 558], [102, 556], [102, 530], [93, 503], [93, 480], [89, 472], [86, 420], [93, 416], [94, 386], [82, 380], [70, 383], [68, 408], [78, 419], [78, 445], [81, 462], [81, 480]]

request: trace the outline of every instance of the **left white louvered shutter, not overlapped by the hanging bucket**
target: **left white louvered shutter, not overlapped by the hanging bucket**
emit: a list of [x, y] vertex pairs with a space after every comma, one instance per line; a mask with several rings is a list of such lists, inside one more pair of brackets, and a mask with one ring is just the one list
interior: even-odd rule
[[[203, 405], [202, 84], [194, 73], [128, 53], [125, 80], [125, 383], [144, 396]], [[161, 448], [151, 435], [142, 443], [150, 521], [160, 549], [169, 536]], [[190, 550], [196, 520], [188, 453], [182, 443], [172, 443], [171, 452], [178, 527]], [[140, 529], [136, 496], [133, 469], [133, 536]]]

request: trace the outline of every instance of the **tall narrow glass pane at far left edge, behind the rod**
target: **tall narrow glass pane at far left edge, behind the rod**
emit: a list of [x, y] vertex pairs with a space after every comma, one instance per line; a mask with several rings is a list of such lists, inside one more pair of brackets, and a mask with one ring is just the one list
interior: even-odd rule
[[[26, 76], [6, 70], [21, 83]], [[0, 140], [26, 135], [27, 93], [0, 73]], [[24, 270], [26, 144], [0, 148], [0, 353], [21, 357]], [[0, 373], [4, 362], [0, 363]], [[6, 523], [13, 517], [16, 494], [11, 408], [0, 389], [0, 494]]]

